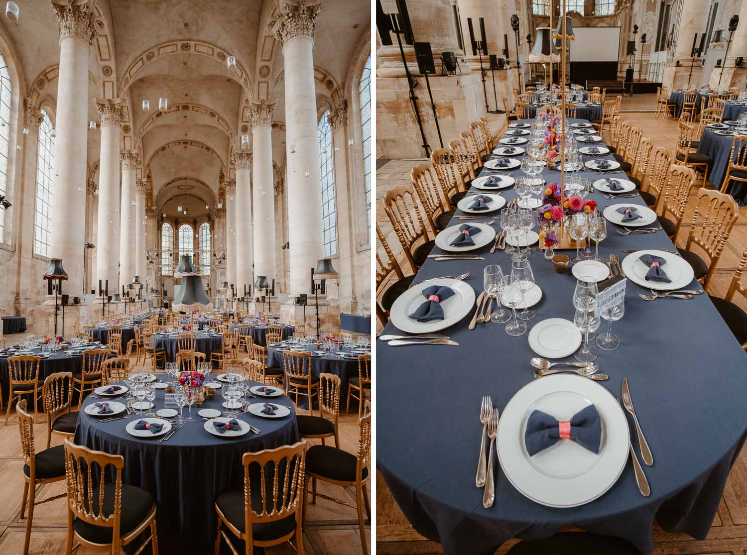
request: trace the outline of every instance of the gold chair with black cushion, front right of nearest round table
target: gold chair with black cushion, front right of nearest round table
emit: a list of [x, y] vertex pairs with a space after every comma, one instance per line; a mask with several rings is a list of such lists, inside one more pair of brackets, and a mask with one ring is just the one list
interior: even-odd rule
[[[306, 441], [244, 453], [244, 486], [218, 495], [215, 511], [218, 527], [215, 553], [222, 540], [238, 555], [225, 526], [245, 542], [245, 555], [254, 548], [270, 548], [294, 540], [298, 555], [303, 555], [303, 484]], [[247, 503], [248, 501], [248, 503]]]

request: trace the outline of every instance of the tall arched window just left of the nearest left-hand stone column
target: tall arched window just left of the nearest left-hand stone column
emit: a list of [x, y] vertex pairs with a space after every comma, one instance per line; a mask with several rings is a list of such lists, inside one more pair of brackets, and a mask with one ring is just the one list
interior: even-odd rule
[[55, 137], [52, 120], [42, 110], [37, 151], [37, 214], [34, 219], [34, 253], [49, 256], [49, 212], [52, 208], [52, 179], [55, 177]]

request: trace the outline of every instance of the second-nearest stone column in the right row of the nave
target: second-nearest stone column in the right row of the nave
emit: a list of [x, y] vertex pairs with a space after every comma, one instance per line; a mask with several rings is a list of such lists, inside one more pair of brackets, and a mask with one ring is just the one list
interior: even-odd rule
[[252, 251], [254, 241], [252, 240], [252, 187], [251, 167], [252, 155], [249, 152], [236, 152], [233, 156], [236, 167], [236, 294], [244, 295], [244, 285], [252, 287], [254, 291], [254, 279], [252, 279]]

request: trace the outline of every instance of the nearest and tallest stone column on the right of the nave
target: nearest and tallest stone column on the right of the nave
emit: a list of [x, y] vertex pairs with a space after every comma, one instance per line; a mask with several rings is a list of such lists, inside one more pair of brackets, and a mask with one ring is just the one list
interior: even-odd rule
[[288, 160], [290, 294], [309, 293], [322, 255], [319, 136], [314, 84], [314, 22], [320, 4], [283, 5], [275, 28], [285, 64], [285, 150]]

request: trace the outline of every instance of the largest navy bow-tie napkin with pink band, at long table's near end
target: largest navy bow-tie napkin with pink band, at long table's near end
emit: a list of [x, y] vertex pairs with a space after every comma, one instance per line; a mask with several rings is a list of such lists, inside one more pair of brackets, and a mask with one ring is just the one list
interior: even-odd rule
[[534, 456], [564, 438], [575, 441], [592, 453], [599, 453], [601, 433], [601, 420], [594, 405], [581, 409], [571, 420], [562, 422], [546, 412], [536, 410], [529, 415], [524, 445], [529, 456]]

